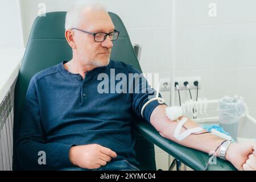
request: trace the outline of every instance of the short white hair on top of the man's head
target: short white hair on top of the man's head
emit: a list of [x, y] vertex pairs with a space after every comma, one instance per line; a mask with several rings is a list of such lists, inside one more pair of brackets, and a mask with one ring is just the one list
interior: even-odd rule
[[97, 11], [105, 11], [108, 13], [108, 10], [105, 6], [101, 5], [100, 3], [96, 1], [80, 1], [75, 3], [75, 5], [72, 6], [70, 10], [68, 10], [65, 20], [65, 30], [76, 28], [79, 26], [79, 23], [81, 22], [81, 13], [84, 9], [93, 9]]

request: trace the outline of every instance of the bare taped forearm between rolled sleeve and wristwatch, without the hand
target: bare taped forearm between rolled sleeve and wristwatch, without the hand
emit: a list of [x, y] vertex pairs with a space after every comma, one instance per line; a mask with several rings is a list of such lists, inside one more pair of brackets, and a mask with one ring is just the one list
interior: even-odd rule
[[[176, 143], [179, 143], [183, 146], [195, 148], [196, 150], [200, 150], [203, 152], [207, 152], [209, 154], [210, 151], [216, 150], [216, 148], [224, 141], [224, 139], [216, 137], [213, 134], [206, 133], [201, 135], [189, 135], [189, 137], [179, 141], [174, 137], [174, 131], [177, 127], [177, 122], [171, 121], [166, 116], [166, 105], [159, 105], [152, 112], [150, 117], [151, 124], [155, 127], [156, 130], [164, 137], [173, 140]], [[181, 120], [183, 117], [180, 117]], [[192, 129], [195, 127], [199, 127], [199, 125], [188, 119], [184, 124], [187, 129]], [[184, 128], [181, 129], [180, 133], [185, 131]], [[206, 130], [205, 130], [206, 131]], [[204, 131], [200, 131], [199, 133], [203, 133]], [[217, 152], [217, 156], [219, 156], [219, 152]]]

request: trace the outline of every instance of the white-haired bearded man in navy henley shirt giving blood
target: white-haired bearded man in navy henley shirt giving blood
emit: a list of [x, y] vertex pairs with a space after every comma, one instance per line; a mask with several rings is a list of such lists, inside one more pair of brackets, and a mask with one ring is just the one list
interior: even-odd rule
[[[150, 122], [163, 137], [196, 150], [209, 153], [224, 142], [209, 133], [177, 140], [177, 122], [166, 117], [166, 105], [155, 100], [142, 112], [154, 94], [151, 88], [146, 93], [99, 93], [101, 73], [110, 76], [113, 69], [127, 77], [139, 73], [131, 65], [110, 60], [112, 42], [119, 32], [104, 7], [96, 3], [75, 5], [67, 13], [65, 29], [65, 38], [73, 50], [72, 60], [37, 73], [28, 86], [17, 141], [22, 167], [138, 170], [131, 134], [135, 115]], [[142, 87], [139, 86], [140, 91]], [[198, 125], [188, 119], [185, 127]], [[217, 156], [219, 151], [220, 148]], [[38, 154], [46, 154], [43, 163]], [[225, 158], [237, 169], [255, 170], [256, 145], [229, 144]]]

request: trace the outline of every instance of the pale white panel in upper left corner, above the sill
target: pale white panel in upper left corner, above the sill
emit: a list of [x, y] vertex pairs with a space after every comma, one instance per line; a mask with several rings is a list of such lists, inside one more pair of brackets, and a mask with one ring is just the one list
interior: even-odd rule
[[21, 48], [23, 35], [18, 0], [0, 0], [0, 48]]

